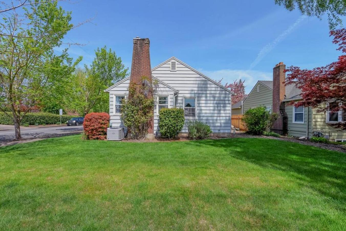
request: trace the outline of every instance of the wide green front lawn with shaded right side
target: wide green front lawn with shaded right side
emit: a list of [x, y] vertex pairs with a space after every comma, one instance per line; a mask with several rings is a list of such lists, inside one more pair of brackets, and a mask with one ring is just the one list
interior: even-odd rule
[[345, 230], [346, 154], [247, 138], [8, 146], [0, 227]]

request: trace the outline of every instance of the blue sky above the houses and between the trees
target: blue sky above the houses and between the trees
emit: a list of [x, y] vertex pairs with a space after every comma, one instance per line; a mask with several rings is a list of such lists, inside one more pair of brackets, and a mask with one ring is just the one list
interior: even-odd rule
[[274, 0], [81, 0], [60, 5], [72, 11], [74, 24], [94, 17], [65, 37], [65, 42], [87, 44], [69, 47], [72, 57], [84, 57], [82, 64], [90, 64], [94, 50], [106, 45], [130, 70], [132, 38], [148, 37], [152, 67], [175, 56], [224, 83], [242, 78], [249, 92], [257, 80], [272, 79], [276, 63], [313, 68], [341, 54], [331, 43], [326, 18], [289, 12]]

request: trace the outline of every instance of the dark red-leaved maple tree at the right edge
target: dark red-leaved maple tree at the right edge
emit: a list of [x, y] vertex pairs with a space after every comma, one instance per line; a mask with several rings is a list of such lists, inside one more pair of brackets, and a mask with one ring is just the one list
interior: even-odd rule
[[[330, 31], [334, 36], [333, 43], [338, 44], [337, 50], [346, 53], [346, 29]], [[302, 101], [295, 106], [318, 108], [318, 112], [342, 112], [342, 121], [336, 127], [346, 130], [346, 55], [341, 55], [338, 61], [312, 70], [301, 70], [297, 66], [290, 66], [286, 85], [294, 83], [301, 89]], [[326, 107], [320, 104], [327, 103]], [[292, 102], [293, 104], [293, 102]]]

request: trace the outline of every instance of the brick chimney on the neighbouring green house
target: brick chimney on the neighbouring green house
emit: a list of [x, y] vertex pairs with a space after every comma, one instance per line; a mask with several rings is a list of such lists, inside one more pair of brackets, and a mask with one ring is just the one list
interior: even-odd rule
[[285, 112], [285, 104], [282, 102], [285, 98], [285, 79], [284, 70], [286, 65], [280, 62], [273, 68], [273, 108], [272, 111], [277, 113], [279, 117], [275, 121], [272, 130], [279, 134], [287, 133], [287, 115]]

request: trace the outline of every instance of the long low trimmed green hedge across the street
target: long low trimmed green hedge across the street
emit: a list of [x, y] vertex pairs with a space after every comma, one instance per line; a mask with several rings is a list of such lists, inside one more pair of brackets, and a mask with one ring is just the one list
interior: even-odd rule
[[[8, 114], [12, 115], [11, 112]], [[67, 120], [76, 117], [70, 115], [62, 115], [61, 123], [66, 123]], [[36, 112], [36, 113], [27, 113], [21, 121], [21, 125], [35, 125], [35, 124], [58, 124], [60, 123], [60, 115], [48, 113], [48, 112]], [[0, 124], [13, 125], [12, 118], [0, 112]]]

